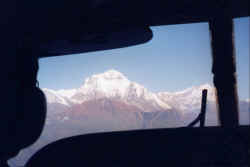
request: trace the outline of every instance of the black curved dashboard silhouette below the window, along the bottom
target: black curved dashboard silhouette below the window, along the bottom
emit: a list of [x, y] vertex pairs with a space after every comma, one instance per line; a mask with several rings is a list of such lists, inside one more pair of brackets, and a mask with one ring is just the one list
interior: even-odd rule
[[250, 127], [137, 130], [59, 140], [27, 167], [247, 167]]

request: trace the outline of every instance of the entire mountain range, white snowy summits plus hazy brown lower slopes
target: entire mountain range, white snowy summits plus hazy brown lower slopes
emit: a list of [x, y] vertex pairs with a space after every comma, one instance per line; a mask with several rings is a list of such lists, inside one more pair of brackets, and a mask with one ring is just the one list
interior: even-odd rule
[[[48, 103], [47, 123], [53, 122], [55, 118], [56, 120], [70, 121], [86, 117], [92, 122], [96, 120], [99, 122], [98, 124], [103, 122], [103, 119], [99, 118], [109, 120], [105, 124], [109, 124], [112, 122], [111, 120], [115, 119], [131, 124], [133, 121], [140, 120], [144, 121], [143, 127], [153, 128], [181, 126], [192, 121], [200, 111], [203, 89], [208, 90], [208, 124], [216, 125], [215, 89], [209, 84], [193, 86], [177, 92], [153, 93], [142, 85], [130, 81], [121, 72], [108, 70], [86, 78], [79, 88], [57, 91], [44, 88], [43, 91]], [[249, 111], [248, 104], [249, 100], [241, 101], [242, 110]], [[132, 122], [122, 118], [122, 114], [126, 117], [125, 115], [129, 115], [131, 112], [139, 113], [132, 116], [136, 117], [136, 119], [133, 118]], [[244, 114], [248, 113], [244, 112]], [[158, 120], [157, 126], [153, 126], [155, 124], [152, 121], [156, 122], [156, 120]], [[167, 123], [166, 120], [168, 120]], [[179, 122], [176, 123], [172, 120]], [[248, 118], [242, 118], [242, 120], [247, 122]], [[86, 120], [84, 121], [86, 122]], [[147, 123], [145, 124], [145, 122]], [[163, 122], [164, 124], [162, 124]], [[170, 124], [170, 122], [172, 123]], [[89, 122], [89, 124], [92, 123]]]

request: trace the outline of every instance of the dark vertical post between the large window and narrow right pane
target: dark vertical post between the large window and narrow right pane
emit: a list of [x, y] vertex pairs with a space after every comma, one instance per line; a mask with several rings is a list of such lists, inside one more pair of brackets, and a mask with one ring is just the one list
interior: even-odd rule
[[239, 125], [233, 20], [226, 14], [209, 22], [214, 85], [222, 127]]

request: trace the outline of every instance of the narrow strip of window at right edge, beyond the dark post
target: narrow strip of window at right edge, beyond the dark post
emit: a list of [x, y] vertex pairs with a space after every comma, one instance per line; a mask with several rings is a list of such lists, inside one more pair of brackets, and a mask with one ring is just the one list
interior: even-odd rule
[[249, 20], [250, 17], [234, 19], [240, 110], [239, 119], [241, 125], [250, 124]]

